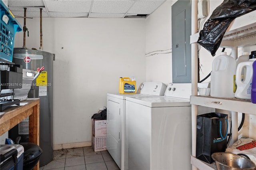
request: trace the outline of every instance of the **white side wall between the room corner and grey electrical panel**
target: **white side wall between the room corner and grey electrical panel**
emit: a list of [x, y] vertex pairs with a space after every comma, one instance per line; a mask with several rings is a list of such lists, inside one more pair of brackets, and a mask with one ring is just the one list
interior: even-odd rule
[[172, 82], [171, 8], [174, 2], [176, 1], [167, 0], [146, 18], [147, 81], [160, 81], [166, 84]]

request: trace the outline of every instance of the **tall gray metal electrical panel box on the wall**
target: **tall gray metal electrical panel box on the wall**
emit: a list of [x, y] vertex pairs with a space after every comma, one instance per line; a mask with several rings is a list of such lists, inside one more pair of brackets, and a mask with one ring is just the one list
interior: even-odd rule
[[191, 0], [172, 5], [172, 83], [191, 83]]

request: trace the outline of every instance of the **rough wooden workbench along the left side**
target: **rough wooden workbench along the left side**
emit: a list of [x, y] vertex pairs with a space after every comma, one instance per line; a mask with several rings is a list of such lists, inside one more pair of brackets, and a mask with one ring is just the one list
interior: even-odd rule
[[[20, 102], [20, 106], [13, 105], [1, 112], [0, 135], [29, 116], [29, 142], [39, 146], [39, 98], [28, 98]], [[39, 162], [34, 167], [39, 170]]]

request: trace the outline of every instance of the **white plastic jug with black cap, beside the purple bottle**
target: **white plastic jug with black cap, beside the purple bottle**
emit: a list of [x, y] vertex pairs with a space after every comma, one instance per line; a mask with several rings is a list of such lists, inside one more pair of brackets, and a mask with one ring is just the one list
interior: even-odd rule
[[252, 90], [252, 64], [256, 61], [256, 55], [250, 55], [249, 61], [238, 64], [236, 69], [236, 93], [235, 97], [239, 99], [251, 99]]

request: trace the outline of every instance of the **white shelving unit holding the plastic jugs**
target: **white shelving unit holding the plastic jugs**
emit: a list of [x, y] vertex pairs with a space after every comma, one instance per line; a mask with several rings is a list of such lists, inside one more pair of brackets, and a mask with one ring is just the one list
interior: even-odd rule
[[[197, 32], [197, 1], [192, 1], [192, 36], [190, 36], [191, 53], [192, 53], [192, 96], [190, 103], [192, 104], [192, 155], [191, 164], [193, 169], [216, 170], [215, 164], [207, 164], [196, 159], [196, 116], [197, 106], [205, 106], [216, 109], [232, 111], [232, 140], [238, 140], [238, 117], [237, 113], [246, 113], [256, 115], [256, 104], [250, 100], [236, 98], [216, 98], [197, 96], [197, 40], [199, 33]], [[232, 57], [237, 58], [238, 47], [256, 44], [256, 23], [243, 26], [241, 28], [226, 32], [222, 39], [221, 47], [232, 48]]]

